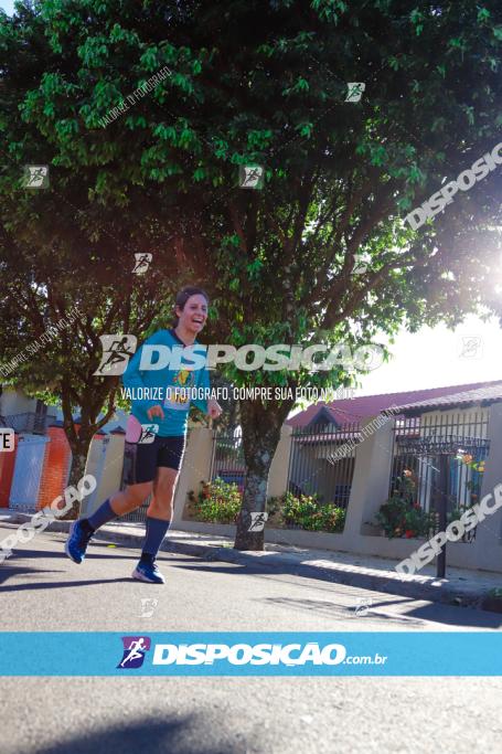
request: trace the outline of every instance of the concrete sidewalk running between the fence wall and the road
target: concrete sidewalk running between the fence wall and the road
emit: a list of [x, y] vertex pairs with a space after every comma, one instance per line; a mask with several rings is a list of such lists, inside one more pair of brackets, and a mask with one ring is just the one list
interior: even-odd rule
[[[31, 519], [25, 513], [2, 516], [9, 523], [23, 523]], [[54, 521], [50, 531], [66, 532], [70, 521]], [[145, 527], [138, 523], [111, 523], [99, 529], [95, 539], [117, 542], [129, 548], [141, 548]], [[447, 578], [436, 578], [435, 565], [423, 569], [420, 575], [400, 576], [394, 570], [397, 560], [312, 550], [292, 545], [266, 543], [265, 552], [234, 550], [233, 539], [212, 537], [171, 529], [161, 550], [194, 555], [207, 561], [223, 561], [253, 567], [257, 573], [290, 573], [308, 578], [399, 594], [413, 599], [427, 599], [458, 605], [484, 607], [502, 613], [502, 598], [490, 596], [501, 590], [502, 574], [491, 571], [471, 571], [448, 566]]]

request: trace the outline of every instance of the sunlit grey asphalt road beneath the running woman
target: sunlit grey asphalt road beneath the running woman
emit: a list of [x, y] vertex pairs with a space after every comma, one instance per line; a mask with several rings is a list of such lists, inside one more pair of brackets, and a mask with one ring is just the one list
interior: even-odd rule
[[[137, 551], [93, 543], [75, 565], [64, 539], [38, 534], [0, 566], [1, 630], [501, 627], [491, 613], [169, 553], [168, 583], [141, 584]], [[472, 754], [501, 748], [501, 692], [483, 678], [2, 678], [0, 752]]]

